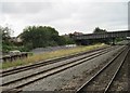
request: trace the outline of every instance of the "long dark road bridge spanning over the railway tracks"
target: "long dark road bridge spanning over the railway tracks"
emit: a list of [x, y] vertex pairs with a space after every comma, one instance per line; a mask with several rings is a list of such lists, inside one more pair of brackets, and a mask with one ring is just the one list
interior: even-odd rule
[[115, 43], [116, 38], [128, 39], [130, 38], [130, 30], [121, 31], [108, 31], [100, 34], [86, 34], [86, 35], [73, 35], [72, 38], [80, 44], [89, 44], [94, 41], [110, 41]]

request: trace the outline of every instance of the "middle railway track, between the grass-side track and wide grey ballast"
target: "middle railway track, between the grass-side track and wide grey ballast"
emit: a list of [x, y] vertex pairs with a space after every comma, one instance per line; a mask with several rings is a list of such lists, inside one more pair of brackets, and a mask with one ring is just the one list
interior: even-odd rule
[[[123, 48], [121, 48], [121, 49], [123, 49]], [[18, 78], [18, 79], [9, 81], [9, 82], [3, 82], [1, 85], [2, 87], [8, 87], [10, 89], [22, 89], [23, 87], [26, 87], [26, 85], [28, 85], [32, 82], [36, 82], [36, 81], [41, 80], [43, 78], [47, 78], [49, 76], [58, 74], [61, 71], [69, 69], [69, 68], [75, 67], [77, 65], [80, 65], [80, 64], [82, 64], [87, 61], [90, 61], [94, 57], [98, 57], [100, 55], [108, 53], [109, 51], [113, 51], [113, 50], [114, 50], [113, 48], [107, 49], [107, 50], [102, 50], [102, 51], [99, 51], [96, 53], [92, 53], [88, 56], [81, 57], [79, 59], [72, 61], [69, 63], [66, 63], [66, 64], [63, 64], [63, 65], [60, 65], [60, 66], [56, 66], [56, 67], [52, 67], [50, 69], [46, 69], [46, 70], [29, 75], [29, 76], [26, 76], [26, 77], [23, 77], [23, 78]]]

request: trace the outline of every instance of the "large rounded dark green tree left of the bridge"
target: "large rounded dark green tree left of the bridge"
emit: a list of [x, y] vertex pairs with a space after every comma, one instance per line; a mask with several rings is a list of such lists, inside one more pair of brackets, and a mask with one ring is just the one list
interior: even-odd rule
[[29, 26], [24, 29], [24, 32], [21, 34], [22, 40], [25, 45], [35, 48], [42, 48], [49, 45], [57, 45], [58, 32], [47, 26]]

